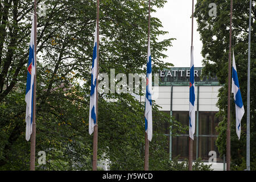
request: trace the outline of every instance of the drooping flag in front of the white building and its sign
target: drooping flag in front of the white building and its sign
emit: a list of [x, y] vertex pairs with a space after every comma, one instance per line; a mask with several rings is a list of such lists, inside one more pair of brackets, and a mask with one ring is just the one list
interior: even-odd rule
[[195, 133], [195, 78], [193, 46], [191, 47], [191, 65], [189, 82], [189, 137], [193, 140]]

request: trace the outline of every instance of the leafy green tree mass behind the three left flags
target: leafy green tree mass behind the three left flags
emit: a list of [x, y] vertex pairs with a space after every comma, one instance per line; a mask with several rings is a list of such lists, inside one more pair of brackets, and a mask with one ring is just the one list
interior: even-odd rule
[[[164, 0], [152, 1], [163, 7]], [[90, 68], [96, 23], [96, 1], [42, 0], [46, 15], [38, 16], [36, 154], [46, 151], [40, 170], [91, 169], [92, 136], [88, 134]], [[0, 169], [27, 170], [30, 142], [24, 140], [26, 73], [33, 4], [28, 0], [0, 3]], [[145, 73], [147, 3], [102, 0], [100, 6], [100, 73]], [[162, 24], [151, 18], [153, 72], [164, 64], [162, 52], [171, 40], [158, 42]], [[115, 98], [117, 102], [107, 102]], [[98, 156], [112, 169], [142, 169], [144, 103], [130, 94], [99, 97]], [[154, 105], [155, 130], [150, 144], [151, 168], [168, 159], [168, 138], [160, 133], [170, 116]], [[171, 124], [170, 124], [171, 125]], [[179, 122], [175, 125], [181, 130]]]

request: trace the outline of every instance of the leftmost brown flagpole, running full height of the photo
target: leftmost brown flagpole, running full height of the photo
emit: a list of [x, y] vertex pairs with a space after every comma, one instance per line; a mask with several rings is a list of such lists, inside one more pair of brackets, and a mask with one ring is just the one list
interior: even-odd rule
[[34, 76], [34, 97], [33, 97], [33, 115], [32, 115], [32, 134], [30, 144], [30, 171], [35, 171], [35, 145], [36, 145], [36, 0], [34, 1], [34, 42], [35, 42], [35, 76]]

